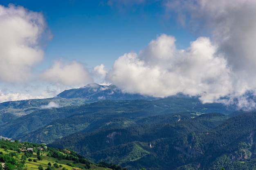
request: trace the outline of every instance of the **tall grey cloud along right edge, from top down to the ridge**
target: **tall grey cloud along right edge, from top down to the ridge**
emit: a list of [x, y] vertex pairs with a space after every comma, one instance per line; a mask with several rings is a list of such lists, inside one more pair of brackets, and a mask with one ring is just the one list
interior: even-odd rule
[[225, 58], [232, 73], [229, 102], [238, 100], [241, 108], [253, 108], [255, 103], [243, 96], [256, 91], [256, 1], [168, 0], [165, 7], [197, 35], [211, 35], [218, 44], [216, 53]]

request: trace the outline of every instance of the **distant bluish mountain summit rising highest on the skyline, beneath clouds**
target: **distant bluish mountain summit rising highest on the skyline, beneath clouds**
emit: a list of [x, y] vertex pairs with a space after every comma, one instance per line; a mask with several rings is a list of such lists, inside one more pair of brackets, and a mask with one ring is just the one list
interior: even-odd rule
[[120, 101], [135, 99], [156, 99], [156, 97], [150, 97], [146, 95], [124, 93], [115, 85], [103, 86], [96, 83], [88, 84], [81, 88], [65, 90], [57, 96], [66, 99], [83, 98], [86, 100], [86, 102], [96, 102], [100, 100]]

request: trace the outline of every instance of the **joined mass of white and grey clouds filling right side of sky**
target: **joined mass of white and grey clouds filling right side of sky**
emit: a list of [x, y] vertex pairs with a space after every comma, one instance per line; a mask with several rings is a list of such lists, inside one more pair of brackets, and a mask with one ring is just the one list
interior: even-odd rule
[[139, 53], [119, 57], [107, 78], [126, 92], [184, 93], [203, 103], [255, 108], [246, 95], [256, 91], [256, 2], [167, 0], [163, 5], [166, 15], [202, 36], [177, 49], [175, 38], [162, 34]]

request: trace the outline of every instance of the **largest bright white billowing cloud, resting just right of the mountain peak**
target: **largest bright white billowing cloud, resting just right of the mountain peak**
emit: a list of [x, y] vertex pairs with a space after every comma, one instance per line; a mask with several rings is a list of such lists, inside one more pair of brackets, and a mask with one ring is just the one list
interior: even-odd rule
[[198, 38], [185, 50], [176, 49], [174, 42], [163, 34], [139, 54], [119, 57], [108, 79], [123, 91], [155, 97], [184, 93], [215, 102], [230, 93], [227, 61], [216, 55], [217, 46], [209, 38]]

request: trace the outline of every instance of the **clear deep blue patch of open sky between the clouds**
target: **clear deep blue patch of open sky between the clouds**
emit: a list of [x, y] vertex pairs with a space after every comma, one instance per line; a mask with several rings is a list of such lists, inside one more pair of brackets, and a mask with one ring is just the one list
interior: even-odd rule
[[195, 39], [175, 18], [165, 19], [163, 2], [131, 6], [110, 6], [103, 0], [5, 0], [31, 11], [42, 12], [53, 38], [45, 46], [47, 62], [55, 57], [79, 60], [94, 67], [139, 51], [162, 33], [175, 35], [178, 46], [186, 48]]

